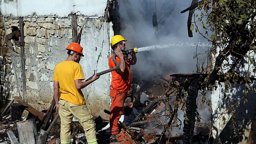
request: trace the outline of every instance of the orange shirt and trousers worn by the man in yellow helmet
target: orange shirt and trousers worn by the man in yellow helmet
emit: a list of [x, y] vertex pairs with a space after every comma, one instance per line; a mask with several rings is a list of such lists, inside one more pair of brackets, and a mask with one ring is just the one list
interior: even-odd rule
[[[110, 68], [115, 67], [115, 63], [112, 60], [113, 54], [108, 59], [108, 65]], [[125, 56], [124, 56], [125, 57]], [[119, 73], [118, 71], [111, 71], [112, 79], [111, 85], [113, 87], [110, 90], [110, 96], [112, 97], [111, 104], [111, 114], [110, 114], [110, 128], [111, 134], [117, 134], [119, 132], [118, 129], [118, 121], [121, 117], [124, 101], [127, 98], [128, 91], [131, 90], [131, 71], [130, 71], [130, 60], [125, 62], [125, 70], [123, 73]], [[120, 59], [116, 56], [116, 61], [119, 63]]]

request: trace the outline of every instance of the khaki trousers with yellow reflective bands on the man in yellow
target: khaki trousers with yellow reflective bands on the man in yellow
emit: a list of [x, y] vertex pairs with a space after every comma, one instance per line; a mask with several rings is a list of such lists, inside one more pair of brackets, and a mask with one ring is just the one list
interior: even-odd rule
[[[60, 140], [61, 144], [70, 141], [71, 122], [74, 117], [82, 125], [87, 140], [91, 140], [93, 144], [97, 144], [96, 130], [94, 127], [93, 116], [90, 114], [86, 105], [75, 105], [65, 100], [59, 101], [60, 115]], [[63, 141], [63, 142], [62, 142]], [[89, 143], [88, 143], [89, 144]]]

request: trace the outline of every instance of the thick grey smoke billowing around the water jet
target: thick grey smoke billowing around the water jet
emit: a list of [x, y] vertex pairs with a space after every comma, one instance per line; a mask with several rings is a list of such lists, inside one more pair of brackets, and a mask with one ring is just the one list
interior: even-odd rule
[[[141, 80], [157, 80], [158, 75], [175, 73], [193, 73], [196, 71], [196, 43], [205, 44], [208, 41], [193, 31], [193, 38], [188, 37], [187, 19], [188, 12], [180, 12], [191, 5], [188, 0], [125, 0], [118, 1], [120, 9], [121, 35], [127, 41], [127, 48], [146, 47], [150, 45], [175, 43], [165, 49], [144, 51], [136, 54], [137, 64], [131, 66], [134, 78]], [[156, 3], [156, 5], [155, 5]], [[158, 30], [153, 27], [152, 16], [157, 8]], [[199, 13], [200, 12], [195, 12]], [[196, 18], [197, 20], [198, 18]], [[193, 21], [193, 20], [192, 20]], [[200, 22], [197, 23], [199, 28]], [[204, 30], [199, 29], [203, 34]], [[210, 34], [209, 36], [210, 37]], [[180, 47], [180, 44], [191, 43]], [[198, 46], [197, 53], [203, 53], [208, 47]], [[199, 63], [205, 60], [199, 56]], [[206, 61], [207, 62], [207, 61]]]

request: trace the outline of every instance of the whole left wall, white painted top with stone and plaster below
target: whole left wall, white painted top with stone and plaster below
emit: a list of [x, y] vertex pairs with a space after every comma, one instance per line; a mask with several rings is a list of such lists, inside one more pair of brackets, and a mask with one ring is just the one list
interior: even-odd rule
[[[97, 2], [64, 0], [53, 3], [29, 0], [1, 1], [7, 34], [12, 32], [11, 26], [19, 27], [18, 16], [24, 17], [26, 94], [31, 106], [39, 111], [50, 106], [54, 95], [52, 80], [54, 68], [56, 64], [67, 58], [65, 48], [72, 42], [71, 12], [80, 12], [77, 14], [77, 24], [78, 32], [83, 27], [81, 46], [85, 55], [80, 64], [85, 78], [91, 77], [95, 71], [108, 69], [112, 26], [104, 21], [106, 3], [105, 0]], [[18, 53], [13, 52], [14, 62], [10, 65], [15, 71], [11, 69], [9, 99], [18, 96], [19, 91], [22, 94], [20, 47], [15, 46], [15, 49]], [[103, 112], [104, 109], [110, 109], [109, 85], [110, 74], [105, 74], [82, 90], [86, 104], [94, 116], [101, 115], [102, 118], [109, 119], [109, 115]]]

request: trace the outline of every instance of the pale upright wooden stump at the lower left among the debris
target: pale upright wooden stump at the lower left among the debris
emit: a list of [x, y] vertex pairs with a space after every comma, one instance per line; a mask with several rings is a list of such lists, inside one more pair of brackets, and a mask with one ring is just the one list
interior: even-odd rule
[[38, 138], [34, 119], [17, 122], [20, 144], [35, 144]]

